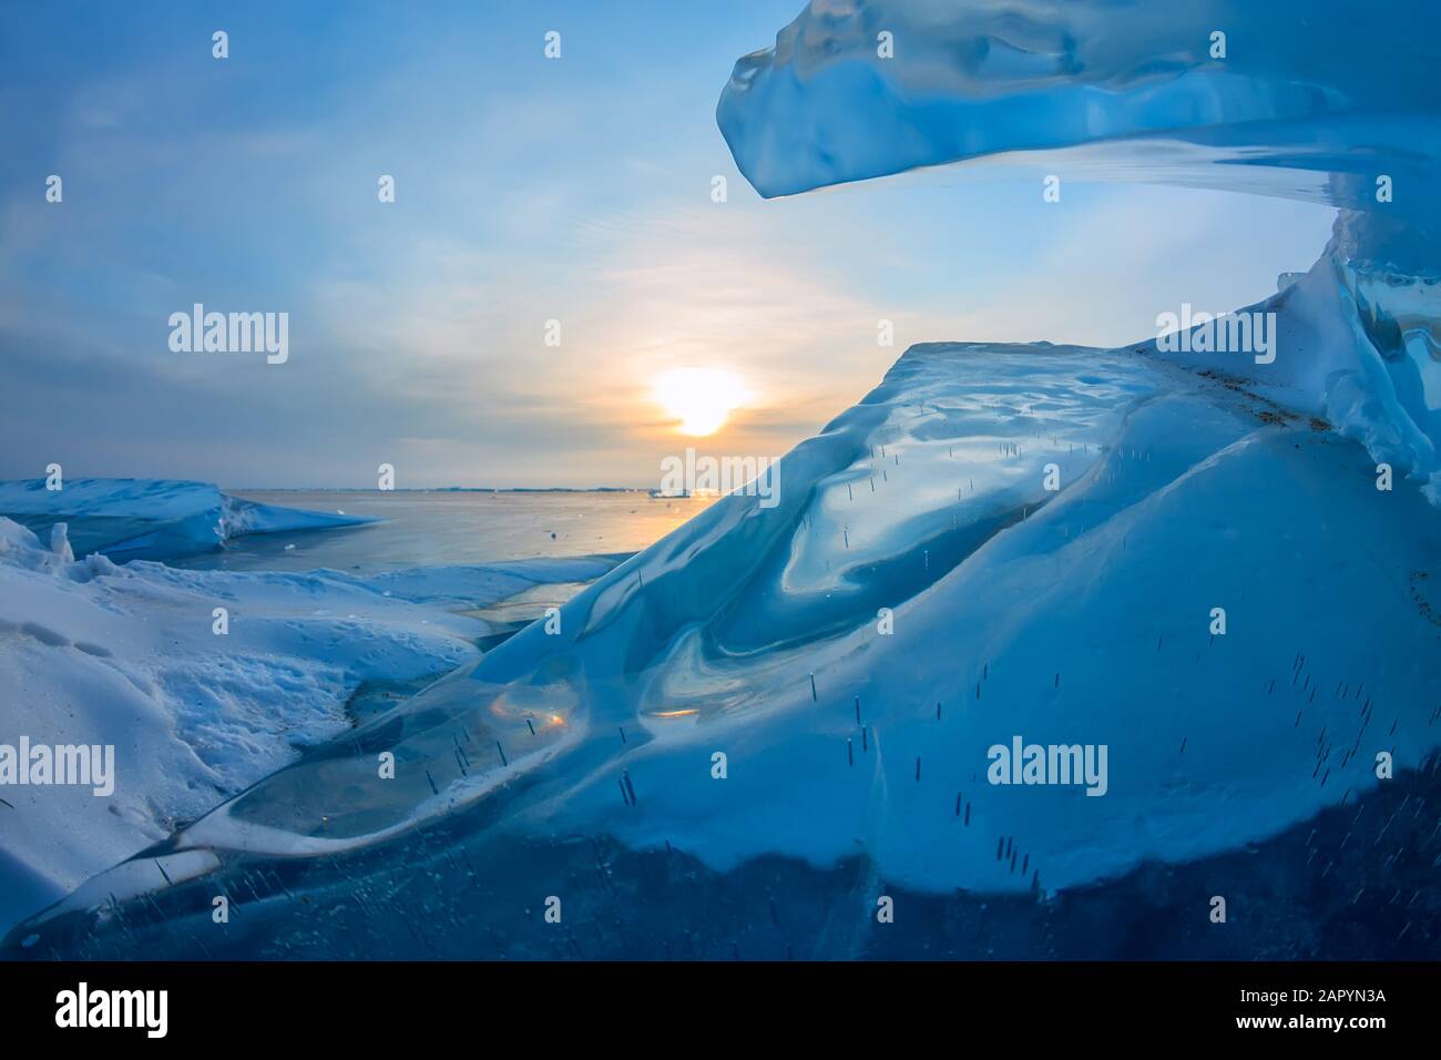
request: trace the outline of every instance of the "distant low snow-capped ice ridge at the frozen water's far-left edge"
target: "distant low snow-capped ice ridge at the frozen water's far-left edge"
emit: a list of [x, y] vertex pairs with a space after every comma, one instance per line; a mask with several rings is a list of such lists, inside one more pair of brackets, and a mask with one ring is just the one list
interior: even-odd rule
[[232, 538], [281, 531], [362, 526], [366, 518], [259, 505], [205, 482], [171, 479], [45, 479], [0, 482], [0, 516], [40, 534], [69, 526], [78, 555], [115, 562], [169, 560], [220, 548]]

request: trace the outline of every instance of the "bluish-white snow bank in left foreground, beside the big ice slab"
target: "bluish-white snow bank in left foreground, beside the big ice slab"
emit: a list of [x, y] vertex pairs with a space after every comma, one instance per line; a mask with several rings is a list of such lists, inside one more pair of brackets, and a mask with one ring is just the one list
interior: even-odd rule
[[53, 544], [0, 518], [0, 744], [114, 746], [115, 790], [0, 787], [0, 924], [346, 731], [363, 682], [477, 658], [490, 627], [457, 609], [611, 567], [235, 574], [76, 562], [63, 532]]

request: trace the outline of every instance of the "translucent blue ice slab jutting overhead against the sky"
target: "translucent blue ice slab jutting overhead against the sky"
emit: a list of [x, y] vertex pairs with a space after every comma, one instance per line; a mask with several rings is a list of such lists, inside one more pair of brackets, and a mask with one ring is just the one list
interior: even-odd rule
[[1359, 209], [1386, 173], [1434, 221], [1435, 25], [1429, 0], [813, 0], [716, 120], [765, 196], [1084, 147], [1059, 160]]

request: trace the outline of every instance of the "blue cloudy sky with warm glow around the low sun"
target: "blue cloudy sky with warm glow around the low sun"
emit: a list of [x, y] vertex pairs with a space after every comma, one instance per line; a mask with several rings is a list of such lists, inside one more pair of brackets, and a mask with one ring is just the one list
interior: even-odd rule
[[[1330, 234], [1308, 203], [984, 172], [764, 200], [715, 107], [800, 7], [7, 4], [0, 477], [654, 487], [687, 446], [782, 454], [914, 342], [1137, 342]], [[287, 313], [288, 359], [173, 350], [195, 303]], [[744, 389], [706, 437], [656, 397], [695, 368]]]

